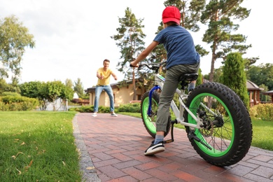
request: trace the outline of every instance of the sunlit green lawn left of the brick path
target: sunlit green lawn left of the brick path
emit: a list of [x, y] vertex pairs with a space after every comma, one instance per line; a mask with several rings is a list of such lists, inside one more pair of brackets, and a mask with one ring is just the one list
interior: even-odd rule
[[0, 112], [0, 181], [81, 181], [76, 112]]

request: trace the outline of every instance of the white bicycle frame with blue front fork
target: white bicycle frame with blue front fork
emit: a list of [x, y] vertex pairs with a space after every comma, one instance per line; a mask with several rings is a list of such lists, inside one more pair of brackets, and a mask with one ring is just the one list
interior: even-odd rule
[[[156, 91], [156, 90], [162, 90], [162, 87], [164, 85], [164, 81], [165, 81], [165, 78], [163, 76], [161, 76], [159, 73], [155, 73], [155, 86], [153, 88], [151, 88], [151, 90], [149, 92], [149, 106], [148, 106], [148, 113], [147, 113], [148, 116], [151, 115], [151, 103], [152, 103], [153, 92]], [[174, 111], [174, 116], [176, 116], [177, 122], [180, 123], [181, 125], [185, 125], [185, 126], [188, 126], [188, 127], [191, 127], [191, 128], [200, 129], [201, 128], [200, 126], [202, 125], [202, 120], [199, 117], [197, 118], [187, 108], [187, 106], [183, 102], [183, 100], [188, 97], [188, 94], [185, 94], [185, 90], [179, 90], [178, 88], [176, 88], [176, 94], [179, 94], [180, 108], [178, 109], [178, 107], [174, 103], [174, 100], [172, 100], [171, 109], [172, 109], [172, 111]], [[183, 118], [184, 109], [186, 111], [188, 111], [190, 116], [193, 117], [193, 119], [196, 121], [197, 124], [192, 124], [192, 123], [186, 123], [185, 122], [185, 119]]]

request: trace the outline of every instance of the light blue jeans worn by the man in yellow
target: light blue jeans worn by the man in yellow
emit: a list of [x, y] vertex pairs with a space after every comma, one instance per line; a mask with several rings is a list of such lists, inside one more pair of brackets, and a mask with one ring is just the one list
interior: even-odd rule
[[101, 95], [102, 90], [104, 90], [109, 96], [110, 111], [112, 113], [115, 108], [113, 102], [113, 90], [110, 85], [96, 86], [96, 90], [94, 92], [94, 113], [97, 113], [97, 111], [99, 111], [99, 96]]

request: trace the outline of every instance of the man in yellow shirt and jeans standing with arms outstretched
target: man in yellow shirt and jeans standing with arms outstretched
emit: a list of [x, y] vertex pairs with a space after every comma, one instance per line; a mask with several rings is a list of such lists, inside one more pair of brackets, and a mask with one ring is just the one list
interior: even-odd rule
[[110, 86], [110, 76], [112, 75], [115, 80], [118, 80], [117, 76], [111, 69], [109, 69], [109, 59], [104, 59], [104, 66], [102, 68], [99, 68], [97, 70], [97, 85], [96, 90], [94, 94], [94, 113], [92, 114], [93, 117], [97, 116], [97, 112], [99, 110], [99, 96], [102, 93], [102, 90], [104, 90], [108, 95], [110, 99], [110, 111], [111, 116], [117, 117], [114, 109], [114, 100], [113, 100], [113, 90]]

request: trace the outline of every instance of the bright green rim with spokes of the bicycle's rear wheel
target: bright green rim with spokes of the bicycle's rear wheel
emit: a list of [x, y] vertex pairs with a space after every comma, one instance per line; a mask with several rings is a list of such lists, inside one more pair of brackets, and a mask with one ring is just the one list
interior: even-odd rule
[[[212, 99], [209, 99], [211, 97]], [[210, 155], [211, 157], [221, 157], [228, 153], [232, 148], [233, 142], [235, 141], [235, 123], [228, 109], [228, 106], [225, 105], [214, 94], [202, 93], [198, 94], [193, 101], [190, 103], [189, 109], [193, 113], [197, 111], [203, 111], [207, 113], [206, 120], [213, 122], [215, 120], [215, 115], [209, 113], [209, 109], [204, 109], [202, 103], [204, 101], [211, 101], [209, 103], [209, 108], [214, 113], [217, 113], [218, 116], [223, 118], [223, 126], [221, 127], [212, 127], [210, 130], [206, 129], [195, 129], [196, 136], [201, 139], [205, 144], [211, 146], [212, 150], [201, 144], [200, 142], [195, 141], [195, 144], [200, 148], [201, 151]], [[207, 105], [207, 104], [205, 104]], [[196, 121], [188, 115], [188, 123], [196, 124]]]

